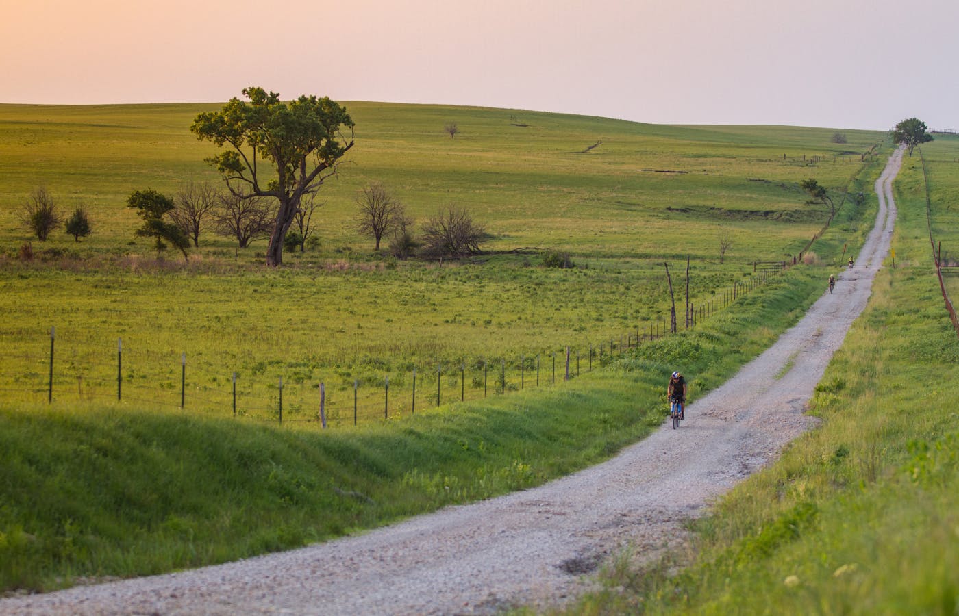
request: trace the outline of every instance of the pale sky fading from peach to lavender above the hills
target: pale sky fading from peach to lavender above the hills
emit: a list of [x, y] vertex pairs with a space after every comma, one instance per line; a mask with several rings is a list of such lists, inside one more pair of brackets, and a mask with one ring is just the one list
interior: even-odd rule
[[959, 129], [959, 0], [0, 0], [0, 103], [249, 85], [652, 124]]

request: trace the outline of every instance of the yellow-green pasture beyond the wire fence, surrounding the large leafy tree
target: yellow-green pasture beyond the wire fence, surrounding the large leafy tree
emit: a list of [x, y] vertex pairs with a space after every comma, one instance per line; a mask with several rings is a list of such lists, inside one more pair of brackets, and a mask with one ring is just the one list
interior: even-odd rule
[[[207, 234], [189, 264], [157, 260], [147, 240], [133, 239], [138, 220], [125, 199], [216, 179], [202, 160], [212, 147], [189, 133], [196, 114], [215, 107], [0, 105], [9, 167], [0, 189], [5, 399], [46, 399], [52, 327], [61, 403], [116, 398], [121, 340], [126, 406], [178, 406], [184, 353], [186, 406], [220, 416], [231, 410], [233, 373], [238, 412], [250, 417], [276, 419], [282, 378], [287, 420], [316, 417], [320, 382], [337, 422], [352, 419], [354, 383], [359, 414], [381, 417], [386, 378], [394, 412], [411, 411], [414, 368], [418, 407], [430, 404], [437, 370], [441, 400], [496, 390], [484, 365], [495, 372], [505, 362], [506, 388], [522, 387], [521, 370], [534, 371], [537, 357], [551, 378], [552, 355], [566, 347], [588, 366], [591, 347], [597, 361], [623, 336], [628, 344], [662, 331], [664, 261], [682, 322], [687, 256], [692, 303], [713, 311], [733, 285], [755, 282], [753, 261], [804, 250], [827, 212], [807, 205], [798, 182], [816, 177], [837, 203], [843, 191], [868, 190], [875, 163], [858, 152], [882, 138], [850, 131], [850, 144], [836, 145], [826, 129], [347, 103], [357, 146], [321, 193], [318, 250], [267, 271], [262, 245], [238, 251]], [[442, 131], [450, 121], [461, 131], [455, 139]], [[442, 265], [372, 255], [351, 222], [354, 197], [371, 181], [420, 219], [447, 204], [467, 207], [491, 235], [490, 254]], [[29, 237], [15, 213], [39, 185], [65, 211], [85, 204], [94, 234], [34, 241], [39, 258], [24, 263], [17, 254]], [[854, 249], [862, 213], [842, 205], [839, 233], [814, 247], [823, 262], [837, 261], [847, 243]], [[734, 243], [720, 264], [722, 233]], [[577, 267], [546, 269], [535, 250], [510, 253], [527, 247], [569, 252]]]

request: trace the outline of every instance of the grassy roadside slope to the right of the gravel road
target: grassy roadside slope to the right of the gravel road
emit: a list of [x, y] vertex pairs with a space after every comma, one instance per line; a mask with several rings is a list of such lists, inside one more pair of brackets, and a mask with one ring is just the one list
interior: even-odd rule
[[[929, 149], [932, 225], [946, 234], [959, 141]], [[610, 589], [573, 613], [956, 613], [959, 340], [931, 264], [923, 184], [906, 158], [896, 268], [878, 272], [816, 389], [822, 425], [695, 523], [689, 553], [643, 571], [625, 553]]]

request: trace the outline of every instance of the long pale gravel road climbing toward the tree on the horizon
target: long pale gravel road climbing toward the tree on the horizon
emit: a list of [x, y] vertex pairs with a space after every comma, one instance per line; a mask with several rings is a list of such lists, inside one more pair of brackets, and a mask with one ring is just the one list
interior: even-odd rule
[[876, 227], [835, 292], [690, 404], [678, 430], [664, 417], [616, 458], [533, 490], [290, 552], [5, 599], [0, 613], [488, 614], [572, 598], [627, 543], [657, 558], [682, 540], [684, 520], [810, 426], [804, 406], [888, 253], [900, 165], [897, 150], [876, 183]]

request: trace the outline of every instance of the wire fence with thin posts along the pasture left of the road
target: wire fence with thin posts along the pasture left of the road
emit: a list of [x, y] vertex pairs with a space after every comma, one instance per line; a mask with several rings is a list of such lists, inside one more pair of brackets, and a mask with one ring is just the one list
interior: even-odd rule
[[[782, 263], [783, 268], [788, 265]], [[690, 306], [686, 328], [729, 307], [774, 273], [755, 271], [746, 280], [717, 290], [709, 301]], [[593, 344], [434, 361], [414, 365], [411, 370], [385, 372], [379, 379], [346, 379], [334, 376], [334, 367], [328, 369], [331, 374], [326, 378], [313, 376], [316, 367], [308, 375], [281, 368], [274, 377], [256, 371], [241, 376], [235, 370], [217, 370], [208, 362], [192, 361], [187, 352], [172, 356], [125, 347], [122, 337], [115, 346], [105, 344], [91, 351], [64, 343], [69, 336], [62, 331], [58, 345], [54, 326], [48, 344], [37, 344], [36, 353], [8, 355], [8, 361], [0, 364], [0, 396], [51, 404], [95, 402], [182, 409], [281, 424], [357, 425], [409, 416], [447, 403], [553, 386], [666, 336], [670, 327], [668, 317], [662, 317]]]

